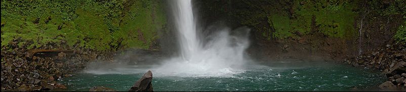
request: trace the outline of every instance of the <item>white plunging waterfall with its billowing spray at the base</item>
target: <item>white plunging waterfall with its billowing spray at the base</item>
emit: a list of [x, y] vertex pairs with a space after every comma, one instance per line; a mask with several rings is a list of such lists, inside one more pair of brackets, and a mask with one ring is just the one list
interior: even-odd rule
[[173, 7], [178, 30], [180, 57], [165, 60], [153, 69], [156, 76], [228, 76], [243, 72], [243, 52], [249, 46], [248, 28], [216, 30], [205, 44], [198, 38], [190, 0], [177, 0]]

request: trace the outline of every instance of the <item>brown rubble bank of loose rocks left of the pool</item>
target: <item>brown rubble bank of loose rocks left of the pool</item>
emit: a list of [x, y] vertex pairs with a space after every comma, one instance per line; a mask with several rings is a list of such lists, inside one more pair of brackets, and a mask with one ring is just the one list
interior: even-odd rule
[[107, 60], [111, 57], [90, 49], [70, 49], [71, 52], [65, 52], [69, 51], [66, 43], [48, 43], [36, 50], [27, 50], [30, 42], [32, 41], [15, 38], [9, 45], [2, 47], [2, 91], [66, 88], [58, 81], [83, 70], [89, 61]]

